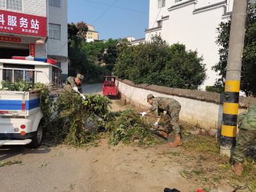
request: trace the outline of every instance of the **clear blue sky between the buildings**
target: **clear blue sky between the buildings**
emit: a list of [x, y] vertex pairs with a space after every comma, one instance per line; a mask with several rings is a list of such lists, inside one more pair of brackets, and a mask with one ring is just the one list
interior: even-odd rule
[[94, 26], [99, 39], [106, 40], [125, 36], [144, 38], [148, 11], [148, 0], [68, 0], [68, 22], [83, 20]]

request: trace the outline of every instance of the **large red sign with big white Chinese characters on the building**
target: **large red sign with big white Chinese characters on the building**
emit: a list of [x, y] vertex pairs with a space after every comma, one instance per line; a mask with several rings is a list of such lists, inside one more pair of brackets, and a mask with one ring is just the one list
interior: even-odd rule
[[0, 10], [0, 32], [47, 36], [46, 28], [46, 17]]

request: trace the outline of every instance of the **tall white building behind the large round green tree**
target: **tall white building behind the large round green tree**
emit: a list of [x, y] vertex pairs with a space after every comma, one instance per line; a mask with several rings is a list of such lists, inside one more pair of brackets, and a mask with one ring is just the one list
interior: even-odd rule
[[150, 14], [145, 40], [160, 34], [168, 44], [185, 44], [204, 57], [207, 79], [204, 86], [213, 85], [217, 74], [211, 67], [218, 63], [216, 33], [218, 25], [227, 21], [234, 0], [150, 0]]

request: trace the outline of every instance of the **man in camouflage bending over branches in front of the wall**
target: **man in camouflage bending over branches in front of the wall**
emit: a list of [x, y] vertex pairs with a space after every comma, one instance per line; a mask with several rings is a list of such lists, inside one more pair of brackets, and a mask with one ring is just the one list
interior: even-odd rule
[[[163, 136], [168, 136], [168, 127], [170, 124], [173, 127], [173, 131], [175, 133], [175, 141], [170, 143], [170, 147], [178, 147], [182, 145], [180, 140], [180, 126], [179, 126], [179, 113], [180, 113], [180, 104], [175, 99], [167, 98], [167, 97], [154, 97], [152, 94], [147, 95], [147, 101], [151, 105], [146, 113], [150, 113], [157, 109], [158, 115], [163, 118], [164, 111], [166, 111], [166, 115], [164, 116], [164, 131]], [[160, 118], [154, 125], [159, 123]]]

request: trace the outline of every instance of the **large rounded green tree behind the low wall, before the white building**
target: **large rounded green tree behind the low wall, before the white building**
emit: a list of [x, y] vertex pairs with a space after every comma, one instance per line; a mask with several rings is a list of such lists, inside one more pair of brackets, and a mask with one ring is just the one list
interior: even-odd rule
[[152, 42], [128, 46], [118, 56], [115, 75], [134, 83], [196, 89], [204, 83], [205, 64], [196, 51], [185, 45], [169, 46], [160, 36]]

